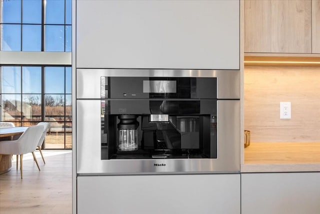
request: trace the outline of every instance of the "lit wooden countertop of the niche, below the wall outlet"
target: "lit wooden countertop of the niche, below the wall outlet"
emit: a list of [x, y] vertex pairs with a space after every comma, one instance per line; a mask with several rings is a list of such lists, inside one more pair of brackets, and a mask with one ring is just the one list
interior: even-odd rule
[[253, 142], [244, 157], [241, 172], [320, 171], [320, 142]]

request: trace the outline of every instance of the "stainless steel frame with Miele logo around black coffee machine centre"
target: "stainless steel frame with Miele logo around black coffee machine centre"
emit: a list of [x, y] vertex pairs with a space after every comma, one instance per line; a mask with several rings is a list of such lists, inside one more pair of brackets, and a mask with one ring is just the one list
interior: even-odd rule
[[[217, 78], [217, 158], [101, 160], [101, 77]], [[78, 175], [236, 173], [240, 171], [239, 70], [76, 70]]]

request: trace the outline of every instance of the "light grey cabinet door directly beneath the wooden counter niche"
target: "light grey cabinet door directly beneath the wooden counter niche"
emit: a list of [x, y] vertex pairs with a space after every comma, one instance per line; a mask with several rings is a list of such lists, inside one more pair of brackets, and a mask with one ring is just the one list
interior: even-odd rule
[[241, 213], [320, 213], [320, 172], [241, 174]]

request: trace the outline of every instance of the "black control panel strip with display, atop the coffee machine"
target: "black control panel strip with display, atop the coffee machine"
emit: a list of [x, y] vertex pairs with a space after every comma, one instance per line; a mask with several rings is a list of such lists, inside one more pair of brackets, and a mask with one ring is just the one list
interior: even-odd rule
[[110, 99], [215, 99], [216, 78], [190, 77], [102, 77]]

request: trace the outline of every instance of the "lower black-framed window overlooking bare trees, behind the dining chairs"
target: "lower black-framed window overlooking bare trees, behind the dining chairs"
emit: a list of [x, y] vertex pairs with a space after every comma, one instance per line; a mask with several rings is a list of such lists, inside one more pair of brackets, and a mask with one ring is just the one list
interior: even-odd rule
[[[71, 148], [71, 67], [2, 66], [2, 121], [50, 123], [46, 148]], [[44, 87], [42, 87], [44, 86]]]

